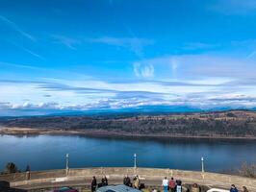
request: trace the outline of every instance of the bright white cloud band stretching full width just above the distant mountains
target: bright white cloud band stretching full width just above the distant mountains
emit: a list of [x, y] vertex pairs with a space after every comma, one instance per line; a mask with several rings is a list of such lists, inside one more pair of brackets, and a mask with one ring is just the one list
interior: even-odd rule
[[[37, 81], [0, 81], [5, 110], [88, 110], [143, 106], [194, 106], [196, 108], [255, 108], [255, 79], [243, 82], [197, 80], [188, 82], [137, 82], [109, 84], [80, 81], [66, 84]], [[65, 81], [64, 81], [65, 82]], [[251, 82], [251, 84], [246, 84]], [[232, 84], [232, 85], [231, 85]], [[234, 87], [234, 88], [233, 88]], [[26, 94], [24, 94], [26, 92]], [[25, 99], [30, 97], [29, 101]], [[13, 100], [12, 100], [13, 98]], [[25, 102], [24, 102], [25, 101]]]

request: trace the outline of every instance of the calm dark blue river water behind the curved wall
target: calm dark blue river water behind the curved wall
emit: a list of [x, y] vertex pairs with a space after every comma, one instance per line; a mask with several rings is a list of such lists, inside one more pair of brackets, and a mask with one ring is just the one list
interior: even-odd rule
[[206, 139], [117, 139], [85, 136], [0, 135], [0, 170], [13, 161], [24, 170], [61, 169], [65, 154], [71, 168], [133, 166], [206, 171], [237, 169], [256, 162], [256, 141]]

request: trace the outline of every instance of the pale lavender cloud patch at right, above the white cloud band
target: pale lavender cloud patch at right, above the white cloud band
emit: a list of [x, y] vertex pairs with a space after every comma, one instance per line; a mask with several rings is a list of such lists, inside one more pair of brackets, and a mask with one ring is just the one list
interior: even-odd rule
[[256, 73], [255, 60], [213, 54], [174, 55], [151, 60], [139, 60], [138, 62], [145, 65], [151, 64], [155, 68], [157, 66], [156, 70], [162, 72], [162, 77], [174, 73], [175, 78], [222, 77], [230, 79], [253, 78]]

